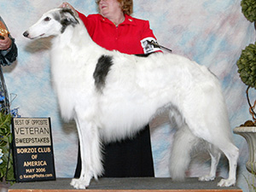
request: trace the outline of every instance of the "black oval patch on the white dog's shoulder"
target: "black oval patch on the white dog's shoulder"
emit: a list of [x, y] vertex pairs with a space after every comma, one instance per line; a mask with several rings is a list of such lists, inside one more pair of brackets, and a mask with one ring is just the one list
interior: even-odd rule
[[95, 72], [93, 73], [93, 78], [95, 79], [96, 89], [102, 92], [105, 86], [108, 72], [110, 67], [113, 65], [112, 56], [102, 55], [96, 64]]

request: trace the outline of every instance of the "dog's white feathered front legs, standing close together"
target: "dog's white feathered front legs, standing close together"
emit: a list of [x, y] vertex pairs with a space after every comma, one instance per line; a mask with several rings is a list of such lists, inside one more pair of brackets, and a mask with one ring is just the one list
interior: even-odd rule
[[81, 175], [73, 178], [71, 185], [86, 189], [90, 179], [102, 174], [102, 155], [99, 133], [96, 125], [83, 119], [76, 119], [81, 153]]

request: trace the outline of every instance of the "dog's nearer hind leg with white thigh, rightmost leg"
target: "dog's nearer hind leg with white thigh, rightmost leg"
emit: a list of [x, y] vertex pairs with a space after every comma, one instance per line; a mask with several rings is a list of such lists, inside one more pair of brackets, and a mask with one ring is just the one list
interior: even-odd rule
[[183, 108], [183, 115], [193, 134], [218, 148], [229, 160], [229, 177], [222, 179], [218, 186], [234, 185], [239, 150], [233, 143], [230, 120], [220, 84], [217, 81], [204, 84], [201, 91], [198, 90], [184, 102], [184, 106], [189, 106]]

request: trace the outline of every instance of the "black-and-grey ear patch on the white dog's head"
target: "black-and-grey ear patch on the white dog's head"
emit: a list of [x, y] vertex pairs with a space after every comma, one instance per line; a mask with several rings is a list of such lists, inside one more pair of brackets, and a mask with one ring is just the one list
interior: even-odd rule
[[75, 17], [73, 10], [71, 9], [61, 9], [61, 33], [65, 32], [67, 26], [75, 26], [77, 24], [79, 24], [79, 20], [77, 20], [77, 18]]

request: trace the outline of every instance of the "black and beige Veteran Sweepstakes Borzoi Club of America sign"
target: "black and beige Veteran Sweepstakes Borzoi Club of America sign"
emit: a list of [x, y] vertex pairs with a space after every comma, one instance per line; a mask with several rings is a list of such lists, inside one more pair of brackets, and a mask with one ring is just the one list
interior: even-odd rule
[[49, 118], [13, 118], [16, 182], [55, 180]]

